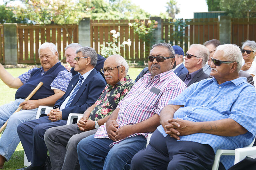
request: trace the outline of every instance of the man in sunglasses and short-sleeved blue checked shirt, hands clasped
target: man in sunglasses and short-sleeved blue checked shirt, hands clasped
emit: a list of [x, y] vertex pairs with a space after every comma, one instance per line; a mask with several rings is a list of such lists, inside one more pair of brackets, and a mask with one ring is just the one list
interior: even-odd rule
[[[211, 62], [213, 78], [192, 84], [169, 101], [161, 111], [161, 125], [147, 148], [133, 157], [131, 170], [210, 170], [217, 149], [249, 145], [256, 135], [256, 89], [239, 77], [241, 62], [239, 47], [218, 46]], [[221, 156], [218, 169], [233, 164], [234, 157]]]

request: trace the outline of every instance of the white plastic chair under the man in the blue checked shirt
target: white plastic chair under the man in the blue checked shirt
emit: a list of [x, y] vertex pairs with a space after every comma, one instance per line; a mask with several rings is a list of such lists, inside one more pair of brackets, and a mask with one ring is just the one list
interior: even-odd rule
[[[150, 138], [151, 138], [152, 134], [148, 135], [148, 139], [147, 139], [147, 144], [146, 147], [149, 144]], [[252, 141], [251, 144], [249, 144], [248, 146], [242, 147], [242, 148], [237, 148], [235, 150], [230, 150], [230, 149], [218, 149], [216, 154], [215, 154], [215, 158], [214, 158], [214, 163], [212, 165], [211, 170], [218, 170], [219, 168], [219, 160], [220, 160], [220, 156], [222, 155], [235, 155], [235, 161], [234, 164], [240, 162], [241, 160], [243, 160], [246, 156], [250, 156], [252, 158], [256, 158], [256, 146], [251, 147], [253, 145], [255, 141], [255, 137], [254, 140]]]

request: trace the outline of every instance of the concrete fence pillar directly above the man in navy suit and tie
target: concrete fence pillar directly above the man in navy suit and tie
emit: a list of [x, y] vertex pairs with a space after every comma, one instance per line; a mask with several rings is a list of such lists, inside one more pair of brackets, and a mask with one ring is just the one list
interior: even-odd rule
[[78, 43], [82, 46], [91, 46], [90, 18], [84, 18], [79, 22]]

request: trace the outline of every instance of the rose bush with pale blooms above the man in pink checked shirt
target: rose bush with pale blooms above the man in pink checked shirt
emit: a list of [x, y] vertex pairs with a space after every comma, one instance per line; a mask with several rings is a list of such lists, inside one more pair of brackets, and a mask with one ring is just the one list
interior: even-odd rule
[[140, 40], [150, 43], [153, 41], [153, 31], [158, 27], [158, 22], [155, 20], [148, 20], [147, 24], [145, 24], [144, 21], [139, 22], [138, 19], [135, 19], [134, 23], [129, 23], [128, 25], [133, 27]]

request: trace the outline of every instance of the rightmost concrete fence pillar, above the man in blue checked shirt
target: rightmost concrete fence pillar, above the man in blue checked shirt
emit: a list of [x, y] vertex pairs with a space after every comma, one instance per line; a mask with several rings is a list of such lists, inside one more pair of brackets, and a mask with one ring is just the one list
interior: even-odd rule
[[218, 16], [218, 22], [220, 43], [231, 43], [231, 17]]

